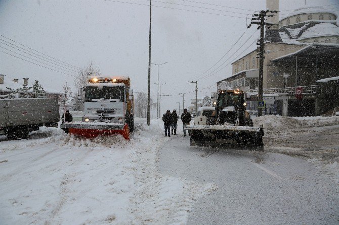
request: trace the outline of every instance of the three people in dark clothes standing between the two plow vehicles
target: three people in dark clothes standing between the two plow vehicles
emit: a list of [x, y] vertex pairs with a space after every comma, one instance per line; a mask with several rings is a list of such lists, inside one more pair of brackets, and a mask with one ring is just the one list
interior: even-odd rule
[[[177, 135], [178, 118], [179, 117], [176, 109], [174, 109], [172, 113], [170, 110], [167, 110], [162, 116], [163, 125], [165, 127], [165, 137], [167, 135], [168, 137], [171, 137], [171, 131], [172, 135]], [[188, 113], [187, 108], [184, 109], [184, 113], [181, 114], [180, 119], [183, 122], [184, 136], [186, 136], [185, 127], [186, 125], [189, 125], [192, 120], [192, 116], [190, 113]]]

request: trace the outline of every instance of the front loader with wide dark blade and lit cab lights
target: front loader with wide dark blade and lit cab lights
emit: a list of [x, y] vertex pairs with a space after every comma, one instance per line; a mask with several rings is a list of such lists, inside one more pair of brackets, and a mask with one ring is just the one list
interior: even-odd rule
[[214, 146], [238, 144], [263, 149], [263, 125], [253, 127], [246, 111], [245, 95], [242, 90], [232, 90], [226, 82], [220, 84], [216, 111], [211, 125], [186, 126], [191, 146]]

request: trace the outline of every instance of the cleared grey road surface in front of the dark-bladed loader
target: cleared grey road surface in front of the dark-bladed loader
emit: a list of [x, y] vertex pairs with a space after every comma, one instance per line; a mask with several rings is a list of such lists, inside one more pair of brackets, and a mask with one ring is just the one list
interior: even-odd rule
[[[186, 143], [186, 144], [183, 144]], [[307, 160], [271, 152], [164, 144], [160, 171], [216, 183], [198, 200], [187, 224], [338, 224], [339, 189]]]

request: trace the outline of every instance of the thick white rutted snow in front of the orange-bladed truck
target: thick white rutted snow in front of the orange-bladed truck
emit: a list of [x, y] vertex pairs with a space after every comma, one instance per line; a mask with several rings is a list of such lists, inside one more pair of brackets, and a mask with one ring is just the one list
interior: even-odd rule
[[211, 183], [160, 174], [167, 140], [158, 124], [120, 136], [77, 139], [43, 128], [0, 141], [0, 224], [184, 224]]

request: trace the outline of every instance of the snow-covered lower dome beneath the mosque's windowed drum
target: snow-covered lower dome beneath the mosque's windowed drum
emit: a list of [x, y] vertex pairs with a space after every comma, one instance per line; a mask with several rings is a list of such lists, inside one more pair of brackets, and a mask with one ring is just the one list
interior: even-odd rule
[[[288, 28], [286, 28], [288, 29]], [[307, 29], [298, 39], [339, 35], [339, 27], [331, 23], [320, 23]]]

